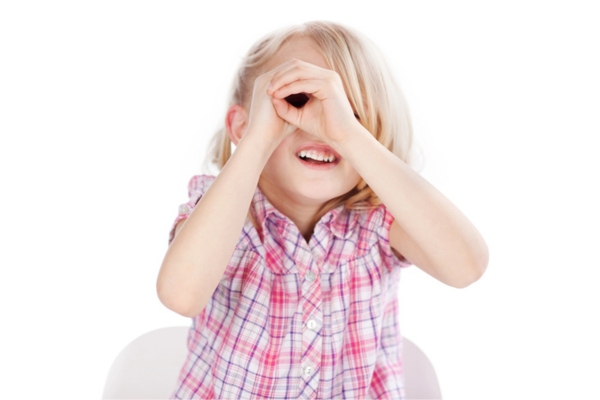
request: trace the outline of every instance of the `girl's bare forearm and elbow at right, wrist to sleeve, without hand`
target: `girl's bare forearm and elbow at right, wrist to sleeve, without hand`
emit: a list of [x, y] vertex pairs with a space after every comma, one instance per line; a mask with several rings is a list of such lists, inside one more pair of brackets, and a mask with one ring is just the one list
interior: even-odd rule
[[334, 147], [394, 216], [403, 239], [392, 243], [397, 251], [451, 286], [463, 287], [481, 276], [487, 266], [485, 241], [442, 193], [364, 128]]

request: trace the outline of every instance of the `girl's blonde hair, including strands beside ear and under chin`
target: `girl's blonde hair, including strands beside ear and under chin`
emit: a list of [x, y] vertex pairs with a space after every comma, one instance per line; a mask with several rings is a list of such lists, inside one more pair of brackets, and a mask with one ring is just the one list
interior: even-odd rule
[[[321, 50], [329, 68], [344, 84], [350, 104], [360, 123], [386, 148], [410, 164], [412, 126], [408, 106], [400, 87], [376, 46], [366, 37], [342, 25], [314, 21], [275, 31], [258, 41], [243, 59], [233, 82], [229, 106], [248, 106], [254, 80], [266, 64], [290, 39], [309, 38]], [[219, 170], [232, 152], [226, 127], [212, 139], [209, 160]], [[327, 202], [317, 216], [345, 204], [349, 209], [372, 208], [380, 204], [373, 190], [361, 180], [350, 192]]]

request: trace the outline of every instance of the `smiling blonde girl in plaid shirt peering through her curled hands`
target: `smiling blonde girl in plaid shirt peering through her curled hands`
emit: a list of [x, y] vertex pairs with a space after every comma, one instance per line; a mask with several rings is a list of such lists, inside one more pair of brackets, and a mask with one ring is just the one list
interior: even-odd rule
[[193, 318], [174, 397], [403, 398], [399, 267], [464, 287], [488, 256], [407, 165], [407, 108], [373, 45], [326, 22], [267, 36], [217, 140], [222, 169], [190, 181], [158, 276]]

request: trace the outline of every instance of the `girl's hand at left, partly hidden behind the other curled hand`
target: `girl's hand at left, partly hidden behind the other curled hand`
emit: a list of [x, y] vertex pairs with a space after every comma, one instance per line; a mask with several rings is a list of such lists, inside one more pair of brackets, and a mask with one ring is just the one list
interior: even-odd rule
[[277, 68], [264, 73], [254, 81], [246, 134], [262, 135], [265, 139], [279, 144], [294, 132], [296, 127], [277, 115], [272, 97], [267, 94], [267, 86], [276, 70]]

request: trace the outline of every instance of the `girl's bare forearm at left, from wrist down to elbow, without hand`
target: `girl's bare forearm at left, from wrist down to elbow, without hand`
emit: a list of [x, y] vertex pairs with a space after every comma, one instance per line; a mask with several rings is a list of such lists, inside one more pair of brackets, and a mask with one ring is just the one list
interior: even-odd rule
[[157, 281], [160, 300], [186, 316], [200, 313], [239, 240], [273, 143], [247, 135], [173, 239]]

